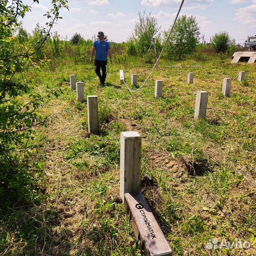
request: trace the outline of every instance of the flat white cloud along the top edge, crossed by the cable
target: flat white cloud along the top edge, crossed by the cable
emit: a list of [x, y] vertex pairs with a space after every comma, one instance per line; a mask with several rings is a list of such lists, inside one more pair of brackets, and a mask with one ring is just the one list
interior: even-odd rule
[[[212, 2], [213, 2], [213, 0], [187, 0], [187, 1], [185, 1], [183, 8], [204, 9]], [[181, 4], [181, 0], [141, 0], [141, 5], [146, 5], [146, 6], [151, 6], [151, 7], [176, 8], [176, 7], [179, 7], [180, 4]]]

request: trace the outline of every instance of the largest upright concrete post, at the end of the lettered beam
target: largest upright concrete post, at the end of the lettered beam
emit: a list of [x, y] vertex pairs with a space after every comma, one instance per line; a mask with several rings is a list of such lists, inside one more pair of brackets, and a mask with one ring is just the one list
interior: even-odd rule
[[138, 132], [121, 133], [120, 197], [125, 193], [139, 192], [141, 137]]

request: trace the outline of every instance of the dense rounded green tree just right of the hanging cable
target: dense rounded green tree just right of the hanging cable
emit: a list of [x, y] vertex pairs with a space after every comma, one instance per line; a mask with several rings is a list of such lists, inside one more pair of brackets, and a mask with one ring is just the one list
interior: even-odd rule
[[[169, 32], [165, 31], [165, 37]], [[199, 43], [200, 27], [196, 18], [193, 16], [186, 17], [183, 15], [181, 18], [178, 18], [172, 35], [169, 39], [169, 43], [165, 49], [165, 55], [169, 59], [181, 58], [184, 55], [191, 54]]]

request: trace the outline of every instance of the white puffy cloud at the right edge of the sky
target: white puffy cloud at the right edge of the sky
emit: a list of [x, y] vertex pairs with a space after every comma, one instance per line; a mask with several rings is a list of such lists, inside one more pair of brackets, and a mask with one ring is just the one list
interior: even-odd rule
[[255, 24], [256, 4], [236, 9], [235, 19], [242, 24]]

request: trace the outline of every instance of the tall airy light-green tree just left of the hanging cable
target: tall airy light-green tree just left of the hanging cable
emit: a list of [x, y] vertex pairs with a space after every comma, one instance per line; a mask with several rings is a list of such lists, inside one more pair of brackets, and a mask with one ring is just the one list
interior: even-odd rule
[[146, 54], [154, 37], [156, 50], [159, 52], [161, 49], [159, 33], [161, 27], [158, 27], [157, 19], [151, 15], [151, 12], [146, 14], [145, 10], [143, 13], [139, 12], [138, 17], [139, 20], [135, 23], [134, 32], [130, 39], [135, 44], [137, 53]]

